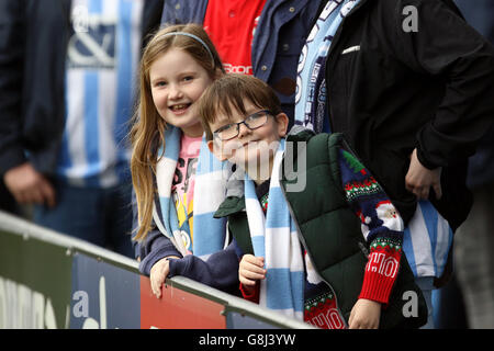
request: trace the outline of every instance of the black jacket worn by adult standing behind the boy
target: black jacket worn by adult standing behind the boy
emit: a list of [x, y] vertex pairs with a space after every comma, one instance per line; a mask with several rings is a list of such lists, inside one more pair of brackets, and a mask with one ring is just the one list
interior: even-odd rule
[[430, 201], [454, 230], [472, 203], [467, 158], [494, 117], [493, 46], [450, 0], [361, 0], [335, 35], [326, 81], [332, 132], [346, 135], [405, 223], [416, 207], [405, 176], [417, 148], [425, 167], [442, 167], [442, 199]]

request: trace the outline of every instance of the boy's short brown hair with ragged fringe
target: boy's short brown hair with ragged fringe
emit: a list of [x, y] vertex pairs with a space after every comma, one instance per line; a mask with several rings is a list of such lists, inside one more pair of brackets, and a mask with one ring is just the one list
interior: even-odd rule
[[273, 115], [283, 112], [280, 99], [262, 80], [247, 75], [228, 73], [216, 79], [198, 102], [198, 113], [206, 134], [206, 140], [213, 139], [210, 124], [216, 121], [218, 113], [231, 117], [234, 112], [247, 113], [244, 101], [259, 109], [269, 110]]

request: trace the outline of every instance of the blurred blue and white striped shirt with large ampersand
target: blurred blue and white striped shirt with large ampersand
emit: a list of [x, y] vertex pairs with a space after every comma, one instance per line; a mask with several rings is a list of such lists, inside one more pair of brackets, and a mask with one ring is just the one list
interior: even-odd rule
[[108, 188], [128, 180], [124, 138], [133, 114], [144, 0], [74, 0], [66, 126], [57, 174]]

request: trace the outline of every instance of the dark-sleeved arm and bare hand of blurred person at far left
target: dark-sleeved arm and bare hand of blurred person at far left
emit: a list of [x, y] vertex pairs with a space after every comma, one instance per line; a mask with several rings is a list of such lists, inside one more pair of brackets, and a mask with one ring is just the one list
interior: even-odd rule
[[55, 206], [55, 190], [25, 157], [22, 81], [25, 47], [24, 1], [0, 2], [0, 180], [20, 204]]

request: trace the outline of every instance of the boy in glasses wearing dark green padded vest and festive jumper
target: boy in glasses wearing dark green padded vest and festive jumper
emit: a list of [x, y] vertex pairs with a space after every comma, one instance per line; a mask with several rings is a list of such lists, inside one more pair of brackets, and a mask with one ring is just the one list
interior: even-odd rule
[[[341, 135], [287, 137], [277, 95], [249, 76], [215, 81], [199, 113], [210, 150], [246, 173], [215, 215], [228, 217], [239, 247], [244, 297], [319, 328], [425, 322], [402, 254], [403, 222]], [[292, 141], [304, 147], [289, 157]], [[405, 291], [418, 296], [411, 318], [403, 318]]]

